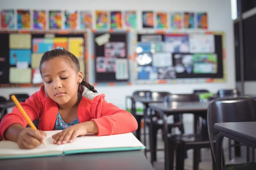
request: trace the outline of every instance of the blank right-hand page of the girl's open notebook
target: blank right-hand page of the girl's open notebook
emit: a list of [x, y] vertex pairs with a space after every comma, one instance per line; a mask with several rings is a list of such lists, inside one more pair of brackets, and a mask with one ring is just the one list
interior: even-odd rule
[[144, 147], [144, 145], [132, 133], [109, 136], [87, 134], [76, 138], [73, 143], [67, 143], [64, 151], [123, 147]]

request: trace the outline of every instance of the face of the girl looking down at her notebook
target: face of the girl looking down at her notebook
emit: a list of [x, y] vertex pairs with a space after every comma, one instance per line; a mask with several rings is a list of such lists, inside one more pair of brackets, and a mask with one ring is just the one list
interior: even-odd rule
[[56, 57], [42, 64], [41, 74], [48, 96], [59, 105], [77, 99], [78, 85], [82, 81], [82, 73], [72, 67], [71, 60]]

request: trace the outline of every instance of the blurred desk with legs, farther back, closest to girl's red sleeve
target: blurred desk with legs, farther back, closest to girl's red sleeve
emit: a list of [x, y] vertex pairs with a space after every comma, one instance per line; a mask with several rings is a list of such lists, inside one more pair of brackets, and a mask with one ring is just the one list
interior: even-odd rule
[[[143, 140], [143, 144], [146, 146], [146, 125], [145, 125], [145, 119], [147, 118], [147, 111], [148, 111], [148, 104], [149, 103], [158, 103], [158, 102], [163, 102], [164, 101], [164, 97], [148, 97], [148, 96], [127, 96], [129, 98], [132, 99], [132, 114], [135, 115], [136, 113], [136, 107], [135, 107], [135, 103], [136, 102], [140, 102], [143, 104], [143, 118], [144, 118], [144, 140]], [[137, 122], [138, 124], [140, 124], [141, 121], [141, 117], [140, 116], [136, 116]], [[136, 130], [136, 137], [137, 139], [140, 140], [140, 126], [137, 128]], [[141, 141], [141, 140], [140, 140]], [[145, 149], [145, 153], [146, 153], [146, 149]]]

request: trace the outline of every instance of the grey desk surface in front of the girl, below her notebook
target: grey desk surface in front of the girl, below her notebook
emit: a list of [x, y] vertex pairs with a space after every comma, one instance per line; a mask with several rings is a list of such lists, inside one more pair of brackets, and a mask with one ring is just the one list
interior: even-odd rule
[[[35, 168], [36, 167], [36, 168]], [[153, 170], [142, 151], [0, 160], [0, 170]]]

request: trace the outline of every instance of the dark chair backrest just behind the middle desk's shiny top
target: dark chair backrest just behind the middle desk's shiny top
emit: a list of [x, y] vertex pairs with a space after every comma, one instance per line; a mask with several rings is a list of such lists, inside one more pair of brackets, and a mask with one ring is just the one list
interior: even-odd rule
[[197, 94], [171, 94], [165, 96], [164, 102], [199, 102]]

